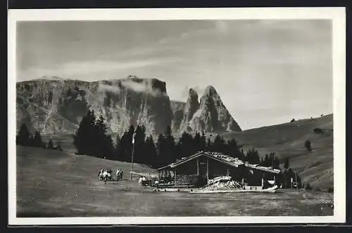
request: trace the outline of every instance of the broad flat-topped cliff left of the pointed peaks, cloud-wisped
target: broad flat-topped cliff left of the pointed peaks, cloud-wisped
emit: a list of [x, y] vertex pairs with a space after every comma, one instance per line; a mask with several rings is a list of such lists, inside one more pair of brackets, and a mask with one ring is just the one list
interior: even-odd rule
[[93, 110], [103, 115], [111, 132], [144, 124], [148, 134], [171, 125], [172, 111], [165, 82], [137, 77], [123, 80], [32, 80], [17, 83], [17, 127], [25, 122], [42, 134], [73, 133]]

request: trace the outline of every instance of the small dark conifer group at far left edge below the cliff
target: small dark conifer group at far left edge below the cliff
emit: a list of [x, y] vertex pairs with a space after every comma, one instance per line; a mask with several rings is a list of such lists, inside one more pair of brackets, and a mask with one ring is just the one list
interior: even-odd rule
[[31, 134], [25, 123], [20, 126], [18, 135], [16, 135], [16, 144], [20, 146], [40, 147], [62, 151], [60, 143], [57, 143], [55, 146], [52, 139], [49, 139], [47, 143], [44, 142], [40, 132], [36, 131], [34, 134]]

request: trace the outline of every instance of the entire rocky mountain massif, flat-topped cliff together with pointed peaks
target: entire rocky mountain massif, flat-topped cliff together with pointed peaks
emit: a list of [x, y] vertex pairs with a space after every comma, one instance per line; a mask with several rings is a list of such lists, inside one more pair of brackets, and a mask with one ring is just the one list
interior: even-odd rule
[[16, 89], [17, 129], [25, 122], [42, 134], [73, 134], [88, 110], [102, 115], [109, 132], [116, 134], [138, 124], [153, 135], [168, 125], [174, 133], [241, 131], [211, 86], [200, 102], [189, 89], [186, 103], [170, 101], [165, 82], [137, 77], [99, 82], [51, 77], [18, 82]]

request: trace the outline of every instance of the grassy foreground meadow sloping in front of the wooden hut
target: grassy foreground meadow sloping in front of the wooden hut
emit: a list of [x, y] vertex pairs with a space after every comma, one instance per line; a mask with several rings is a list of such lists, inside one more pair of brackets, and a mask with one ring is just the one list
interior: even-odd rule
[[[333, 195], [286, 190], [277, 194], [189, 194], [153, 191], [128, 175], [130, 163], [61, 151], [17, 147], [18, 218], [119, 216], [333, 215]], [[99, 168], [122, 168], [122, 181], [103, 184]], [[136, 172], [155, 172], [135, 164]], [[44, 223], [44, 222], [43, 222]]]

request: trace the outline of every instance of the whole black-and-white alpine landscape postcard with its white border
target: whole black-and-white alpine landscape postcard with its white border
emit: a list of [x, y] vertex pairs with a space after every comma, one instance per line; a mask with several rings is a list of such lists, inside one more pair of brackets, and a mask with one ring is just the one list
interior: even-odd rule
[[337, 215], [344, 38], [255, 15], [16, 20], [16, 220]]

